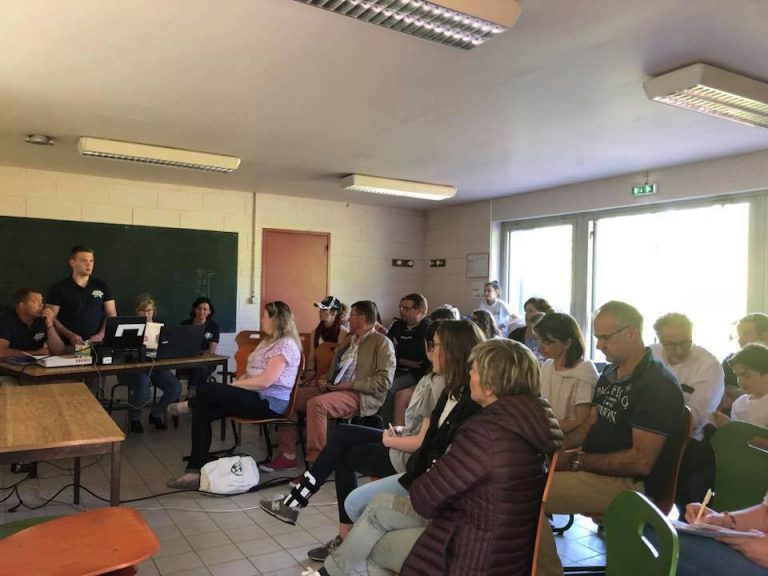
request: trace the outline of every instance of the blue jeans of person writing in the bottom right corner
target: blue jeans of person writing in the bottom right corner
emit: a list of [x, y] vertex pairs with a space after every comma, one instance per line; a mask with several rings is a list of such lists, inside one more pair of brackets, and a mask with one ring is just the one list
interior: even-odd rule
[[747, 560], [741, 552], [727, 544], [680, 534], [680, 560], [677, 576], [766, 576], [768, 568], [761, 568]]

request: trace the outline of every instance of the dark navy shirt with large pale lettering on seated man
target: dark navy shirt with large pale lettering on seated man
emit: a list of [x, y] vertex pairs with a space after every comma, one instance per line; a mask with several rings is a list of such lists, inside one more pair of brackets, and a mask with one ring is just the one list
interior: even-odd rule
[[603, 370], [592, 402], [597, 420], [584, 440], [584, 452], [628, 450], [632, 447], [633, 428], [666, 438], [651, 473], [639, 478], [645, 480], [646, 494], [657, 494], [665, 473], [674, 465], [675, 449], [681, 440], [685, 402], [675, 375], [646, 348], [643, 359], [628, 378], [619, 380], [614, 364]]

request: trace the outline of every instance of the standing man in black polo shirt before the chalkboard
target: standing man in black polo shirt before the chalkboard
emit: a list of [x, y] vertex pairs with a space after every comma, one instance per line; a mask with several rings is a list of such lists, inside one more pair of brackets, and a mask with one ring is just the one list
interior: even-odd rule
[[94, 254], [87, 246], [75, 246], [69, 255], [72, 275], [48, 290], [47, 302], [56, 316], [56, 330], [70, 344], [101, 342], [108, 316], [116, 316], [112, 291], [93, 278]]

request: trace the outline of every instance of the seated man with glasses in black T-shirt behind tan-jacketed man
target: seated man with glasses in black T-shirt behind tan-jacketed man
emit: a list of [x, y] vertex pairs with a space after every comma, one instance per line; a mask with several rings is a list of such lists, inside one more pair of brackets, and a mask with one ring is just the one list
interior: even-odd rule
[[427, 299], [421, 294], [408, 294], [400, 300], [400, 319], [395, 320], [387, 336], [395, 345], [397, 369], [392, 388], [381, 408], [384, 423], [405, 424], [405, 409], [413, 395], [413, 388], [429, 371], [429, 360], [424, 338], [429, 326]]

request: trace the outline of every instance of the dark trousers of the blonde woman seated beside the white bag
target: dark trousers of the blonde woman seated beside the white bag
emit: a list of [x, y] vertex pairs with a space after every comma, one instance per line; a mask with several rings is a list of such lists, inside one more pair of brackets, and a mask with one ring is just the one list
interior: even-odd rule
[[189, 401], [192, 410], [192, 452], [187, 472], [197, 472], [208, 459], [213, 433], [211, 423], [224, 416], [240, 418], [279, 418], [259, 393], [219, 382], [200, 386]]

